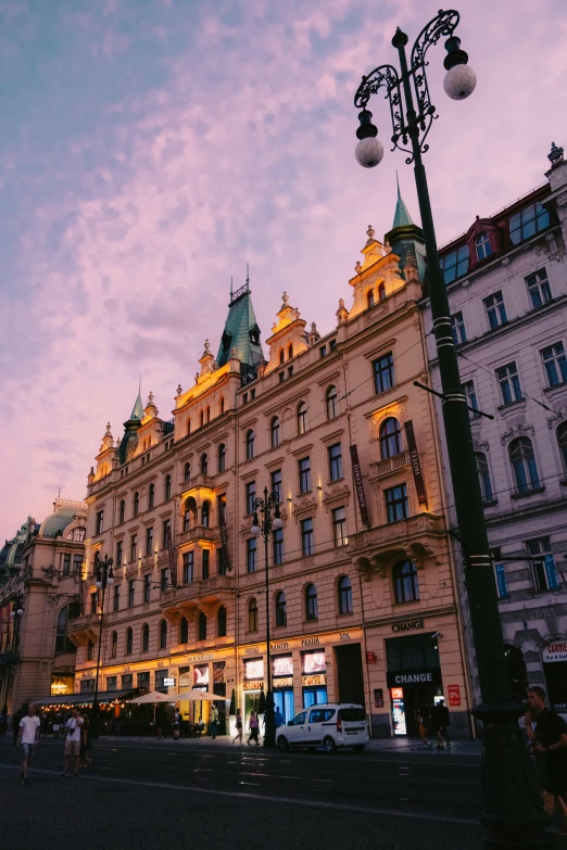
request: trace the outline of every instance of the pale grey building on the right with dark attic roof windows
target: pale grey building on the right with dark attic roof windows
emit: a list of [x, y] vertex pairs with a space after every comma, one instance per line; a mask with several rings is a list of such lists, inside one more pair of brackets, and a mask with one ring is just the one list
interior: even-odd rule
[[[567, 712], [567, 163], [441, 252], [514, 695]], [[426, 330], [429, 303], [423, 302]], [[428, 338], [432, 385], [437, 354]], [[477, 409], [479, 413], [477, 413]], [[488, 418], [484, 414], [489, 414]], [[441, 417], [440, 407], [438, 415]], [[446, 452], [448, 512], [456, 525]], [[456, 559], [459, 556], [456, 553]], [[466, 596], [462, 585], [463, 611]], [[474, 646], [467, 626], [471, 678]]]

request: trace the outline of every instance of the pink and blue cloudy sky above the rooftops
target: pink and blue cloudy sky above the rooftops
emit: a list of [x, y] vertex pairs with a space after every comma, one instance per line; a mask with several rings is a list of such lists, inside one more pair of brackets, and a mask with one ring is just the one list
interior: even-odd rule
[[[0, 2], [0, 537], [83, 498], [142, 373], [171, 417], [230, 276], [251, 265], [263, 338], [284, 290], [322, 333], [365, 230], [391, 226], [400, 153], [354, 161], [353, 92], [437, 13], [417, 0]], [[475, 96], [448, 100], [427, 168], [440, 243], [543, 181], [567, 147], [564, 0], [463, 0]], [[389, 114], [371, 106], [382, 139]]]

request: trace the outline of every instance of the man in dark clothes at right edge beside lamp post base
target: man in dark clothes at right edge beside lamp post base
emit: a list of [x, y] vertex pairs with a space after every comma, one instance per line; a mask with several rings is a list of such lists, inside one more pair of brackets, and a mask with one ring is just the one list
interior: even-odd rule
[[[536, 722], [534, 722], [536, 721]], [[545, 705], [545, 692], [528, 688], [528, 712], [524, 715], [531, 750], [543, 759], [543, 801], [547, 814], [557, 812], [559, 835], [567, 835], [567, 723]]]

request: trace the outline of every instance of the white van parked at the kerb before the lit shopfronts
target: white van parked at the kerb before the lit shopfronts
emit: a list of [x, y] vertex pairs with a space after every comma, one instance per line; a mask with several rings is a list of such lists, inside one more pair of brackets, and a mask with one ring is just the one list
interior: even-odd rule
[[287, 752], [290, 747], [310, 750], [323, 747], [325, 752], [335, 752], [337, 747], [352, 747], [355, 752], [363, 752], [369, 739], [363, 706], [349, 702], [312, 706], [276, 731], [276, 743], [281, 752]]

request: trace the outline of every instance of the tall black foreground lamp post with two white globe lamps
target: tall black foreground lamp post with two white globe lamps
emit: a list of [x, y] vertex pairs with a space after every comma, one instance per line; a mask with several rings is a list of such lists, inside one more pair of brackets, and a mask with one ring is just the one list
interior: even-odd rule
[[[362, 107], [356, 131], [356, 160], [366, 168], [378, 165], [383, 148], [377, 139], [366, 105], [371, 94], [383, 87], [390, 104], [392, 143], [405, 151], [406, 164], [414, 163], [414, 174], [421, 214], [429, 271], [429, 297], [433, 319], [439, 370], [442, 383], [442, 410], [455, 498], [458, 536], [465, 561], [465, 578], [475, 639], [482, 702], [472, 713], [483, 723], [482, 791], [484, 847], [547, 847], [546, 815], [543, 813], [533, 766], [524, 746], [518, 718], [522, 706], [511, 698], [504, 642], [497, 609], [496, 588], [489, 550], [480, 485], [476, 467], [467, 399], [458, 373], [457, 356], [445, 290], [439, 265], [433, 217], [421, 154], [429, 145], [425, 139], [436, 117], [426, 75], [426, 54], [432, 45], [446, 38], [448, 71], [443, 88], [453, 100], [472, 93], [476, 76], [461, 41], [454, 36], [459, 14], [454, 10], [439, 12], [417, 37], [408, 66], [405, 47], [407, 36], [398, 28], [392, 45], [398, 49], [400, 72], [392, 65], [380, 65], [362, 83], [354, 105]], [[414, 105], [414, 93], [416, 105]]]

